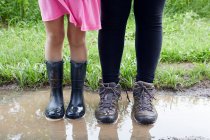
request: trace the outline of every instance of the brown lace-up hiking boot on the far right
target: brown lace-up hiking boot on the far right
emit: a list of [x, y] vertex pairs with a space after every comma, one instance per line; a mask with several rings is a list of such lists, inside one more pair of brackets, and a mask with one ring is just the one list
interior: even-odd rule
[[134, 84], [133, 117], [141, 124], [153, 124], [157, 120], [157, 111], [152, 104], [155, 87], [146, 82], [138, 81]]

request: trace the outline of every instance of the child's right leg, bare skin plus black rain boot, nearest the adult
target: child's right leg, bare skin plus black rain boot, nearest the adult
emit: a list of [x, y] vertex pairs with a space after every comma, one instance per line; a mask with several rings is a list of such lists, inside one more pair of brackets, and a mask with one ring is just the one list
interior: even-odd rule
[[70, 119], [81, 118], [85, 114], [83, 87], [87, 67], [87, 49], [85, 45], [85, 32], [68, 24], [68, 40], [71, 51], [71, 99], [66, 110], [66, 117]]

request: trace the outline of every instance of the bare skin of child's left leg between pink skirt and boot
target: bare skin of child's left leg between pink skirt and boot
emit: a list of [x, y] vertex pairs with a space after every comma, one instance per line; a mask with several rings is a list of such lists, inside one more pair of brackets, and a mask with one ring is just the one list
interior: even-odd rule
[[64, 17], [45, 22], [47, 40], [45, 44], [45, 59], [47, 61], [61, 61], [64, 32]]

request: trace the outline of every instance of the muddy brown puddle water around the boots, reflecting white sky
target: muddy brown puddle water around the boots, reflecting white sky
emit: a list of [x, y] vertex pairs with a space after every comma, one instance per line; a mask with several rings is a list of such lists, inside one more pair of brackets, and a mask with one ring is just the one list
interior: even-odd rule
[[[69, 90], [65, 90], [65, 105]], [[129, 94], [132, 99], [132, 94]], [[120, 117], [112, 125], [98, 124], [94, 110], [96, 93], [85, 93], [87, 112], [79, 120], [49, 122], [43, 112], [48, 103], [48, 90], [0, 93], [0, 139], [75, 139], [75, 140], [147, 140], [147, 139], [210, 139], [210, 98], [157, 95], [159, 113], [154, 125], [143, 126], [131, 118], [132, 104], [123, 94]]]

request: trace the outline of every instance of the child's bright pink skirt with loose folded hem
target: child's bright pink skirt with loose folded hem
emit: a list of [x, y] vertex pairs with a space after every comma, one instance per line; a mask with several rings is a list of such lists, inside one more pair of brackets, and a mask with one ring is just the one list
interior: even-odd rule
[[39, 7], [43, 21], [68, 14], [69, 22], [82, 31], [101, 29], [100, 0], [39, 0]]

